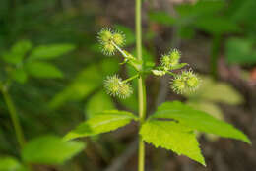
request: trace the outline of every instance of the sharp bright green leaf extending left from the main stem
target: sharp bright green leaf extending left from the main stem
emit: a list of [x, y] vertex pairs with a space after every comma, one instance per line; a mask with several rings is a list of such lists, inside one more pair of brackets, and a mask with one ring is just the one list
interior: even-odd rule
[[132, 120], [137, 120], [137, 117], [126, 111], [109, 110], [100, 112], [94, 118], [85, 121], [75, 130], [69, 132], [64, 140], [68, 141], [110, 132], [129, 124]]

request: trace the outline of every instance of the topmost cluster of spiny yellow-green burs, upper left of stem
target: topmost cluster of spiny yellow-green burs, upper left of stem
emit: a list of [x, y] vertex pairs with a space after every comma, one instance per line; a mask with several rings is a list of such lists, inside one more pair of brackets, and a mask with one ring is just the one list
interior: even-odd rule
[[122, 32], [110, 28], [102, 28], [98, 33], [98, 41], [105, 55], [114, 55], [117, 48], [124, 46], [125, 36]]

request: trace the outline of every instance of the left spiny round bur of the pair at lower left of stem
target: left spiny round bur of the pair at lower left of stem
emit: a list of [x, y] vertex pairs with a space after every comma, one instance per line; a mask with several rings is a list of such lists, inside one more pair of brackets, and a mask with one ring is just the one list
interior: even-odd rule
[[111, 96], [117, 96], [119, 94], [119, 88], [121, 84], [122, 79], [120, 79], [117, 75], [108, 76], [104, 81], [106, 93]]

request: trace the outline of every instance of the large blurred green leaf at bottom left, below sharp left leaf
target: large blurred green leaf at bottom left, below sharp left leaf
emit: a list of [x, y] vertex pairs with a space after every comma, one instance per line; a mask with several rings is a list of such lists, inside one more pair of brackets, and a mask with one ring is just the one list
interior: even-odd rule
[[22, 150], [24, 161], [37, 164], [62, 164], [84, 149], [83, 142], [64, 142], [56, 136], [42, 136], [28, 142]]

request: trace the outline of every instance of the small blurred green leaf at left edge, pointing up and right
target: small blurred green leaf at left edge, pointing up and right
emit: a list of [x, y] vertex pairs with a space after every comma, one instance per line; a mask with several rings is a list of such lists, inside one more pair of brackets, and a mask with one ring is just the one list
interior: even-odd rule
[[10, 51], [3, 54], [3, 60], [7, 63], [19, 64], [31, 48], [32, 43], [29, 40], [18, 41]]

